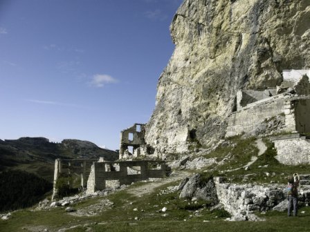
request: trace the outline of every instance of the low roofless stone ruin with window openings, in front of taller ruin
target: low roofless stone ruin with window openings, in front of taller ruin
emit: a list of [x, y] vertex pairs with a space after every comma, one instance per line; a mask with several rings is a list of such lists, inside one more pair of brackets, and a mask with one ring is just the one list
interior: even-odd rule
[[[57, 197], [56, 182], [60, 177], [80, 175], [82, 188], [86, 193], [95, 193], [106, 189], [108, 182], [119, 185], [131, 184], [148, 178], [167, 176], [168, 168], [164, 161], [103, 161], [98, 160], [55, 160], [53, 199]], [[72, 186], [72, 183], [68, 183]]]

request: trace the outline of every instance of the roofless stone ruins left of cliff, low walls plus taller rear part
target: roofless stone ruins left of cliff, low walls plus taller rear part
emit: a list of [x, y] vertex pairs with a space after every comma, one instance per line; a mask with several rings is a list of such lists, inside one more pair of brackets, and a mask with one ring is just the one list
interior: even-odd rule
[[[161, 160], [132, 160], [139, 155], [152, 155], [152, 148], [145, 144], [145, 124], [134, 124], [120, 133], [120, 160], [55, 160], [53, 197], [57, 196], [57, 181], [64, 178], [74, 188], [72, 177], [80, 178], [75, 187], [94, 193], [107, 187], [131, 184], [148, 178], [161, 178], [169, 169]], [[130, 150], [131, 147], [131, 151]], [[128, 160], [129, 159], [129, 160]], [[71, 178], [69, 178], [71, 177]]]

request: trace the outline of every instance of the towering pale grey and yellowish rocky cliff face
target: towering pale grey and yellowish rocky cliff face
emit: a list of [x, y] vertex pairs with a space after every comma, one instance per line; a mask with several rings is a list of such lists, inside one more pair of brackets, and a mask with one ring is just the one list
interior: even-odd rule
[[185, 0], [170, 31], [176, 47], [145, 136], [162, 153], [223, 137], [237, 90], [310, 68], [309, 0]]

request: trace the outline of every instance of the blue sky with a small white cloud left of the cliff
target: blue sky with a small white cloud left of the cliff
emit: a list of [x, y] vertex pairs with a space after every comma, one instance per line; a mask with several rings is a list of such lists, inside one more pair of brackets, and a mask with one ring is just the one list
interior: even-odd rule
[[0, 0], [0, 139], [118, 149], [146, 123], [182, 0]]

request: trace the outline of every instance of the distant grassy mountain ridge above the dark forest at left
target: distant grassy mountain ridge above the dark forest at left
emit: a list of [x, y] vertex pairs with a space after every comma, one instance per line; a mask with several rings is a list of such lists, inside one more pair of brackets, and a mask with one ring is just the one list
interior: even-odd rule
[[61, 143], [50, 142], [45, 137], [21, 137], [4, 141], [0, 139], [0, 171], [27, 171], [50, 182], [53, 181], [55, 159], [99, 157], [104, 157], [104, 160], [117, 160], [118, 153], [78, 139], [64, 139]]

